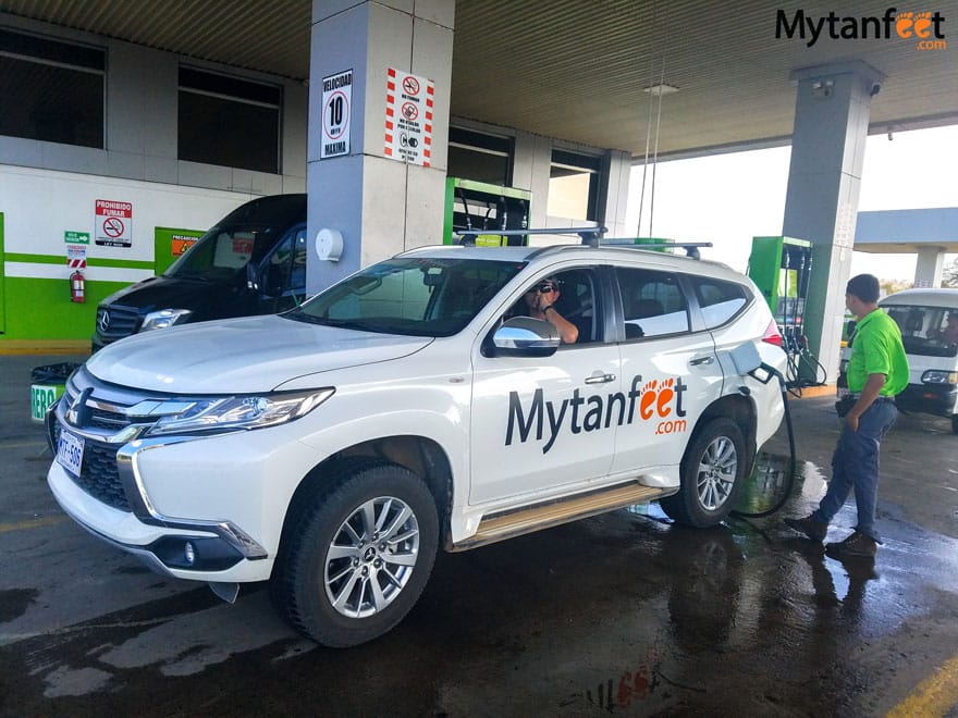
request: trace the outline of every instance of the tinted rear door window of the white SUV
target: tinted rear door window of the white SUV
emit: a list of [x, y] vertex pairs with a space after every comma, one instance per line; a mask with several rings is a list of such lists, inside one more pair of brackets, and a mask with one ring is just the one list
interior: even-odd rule
[[636, 268], [615, 270], [625, 312], [625, 337], [689, 331], [688, 302], [674, 274]]

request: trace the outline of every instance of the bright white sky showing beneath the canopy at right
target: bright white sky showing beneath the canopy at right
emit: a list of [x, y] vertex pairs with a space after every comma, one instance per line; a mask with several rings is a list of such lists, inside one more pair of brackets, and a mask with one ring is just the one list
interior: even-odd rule
[[[871, 135], [865, 143], [859, 211], [958, 207], [958, 125], [892, 137]], [[639, 236], [712, 242], [703, 258], [746, 271], [752, 237], [782, 234], [790, 154], [790, 147], [778, 147], [659, 162], [654, 200], [650, 164]], [[642, 171], [634, 166], [629, 180], [630, 232], [639, 226]], [[956, 257], [946, 255], [945, 265]], [[851, 274], [911, 282], [916, 261], [914, 255], [857, 251]]]

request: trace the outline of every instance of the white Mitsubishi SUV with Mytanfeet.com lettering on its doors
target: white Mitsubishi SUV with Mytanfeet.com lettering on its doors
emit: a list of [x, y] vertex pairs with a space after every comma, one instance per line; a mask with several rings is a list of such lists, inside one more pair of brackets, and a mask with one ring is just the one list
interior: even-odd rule
[[[545, 278], [575, 344], [512, 315]], [[159, 571], [226, 599], [270, 580], [296, 629], [354, 645], [402, 620], [439, 547], [652, 500], [720, 522], [783, 416], [777, 383], [733, 352], [782, 370], [779, 343], [756, 286], [722, 264], [416, 249], [284, 314], [103, 348], [48, 417], [48, 481]]]

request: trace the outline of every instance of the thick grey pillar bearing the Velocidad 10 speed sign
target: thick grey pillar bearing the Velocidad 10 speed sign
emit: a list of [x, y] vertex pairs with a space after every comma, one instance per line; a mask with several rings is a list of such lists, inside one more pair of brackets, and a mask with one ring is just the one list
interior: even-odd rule
[[[335, 230], [343, 250], [337, 261], [310, 251], [310, 294], [396, 252], [442, 243], [454, 20], [454, 0], [314, 0], [308, 236], [312, 244], [320, 230]], [[390, 69], [432, 82], [428, 166], [386, 156]], [[348, 151], [323, 158], [323, 113], [329, 108], [323, 107], [322, 81], [347, 71]], [[402, 97], [394, 97], [398, 109]], [[426, 108], [419, 108], [417, 120], [425, 123]]]

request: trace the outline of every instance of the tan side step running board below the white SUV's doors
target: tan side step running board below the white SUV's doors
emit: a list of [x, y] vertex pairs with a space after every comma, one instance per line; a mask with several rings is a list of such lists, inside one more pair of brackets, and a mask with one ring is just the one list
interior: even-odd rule
[[619, 484], [612, 488], [579, 494], [560, 502], [537, 504], [508, 513], [496, 513], [482, 519], [479, 523], [479, 530], [468, 538], [453, 544], [451, 550], [467, 550], [634, 504], [648, 504], [671, 496], [677, 491], [678, 487], [656, 488], [636, 483]]

